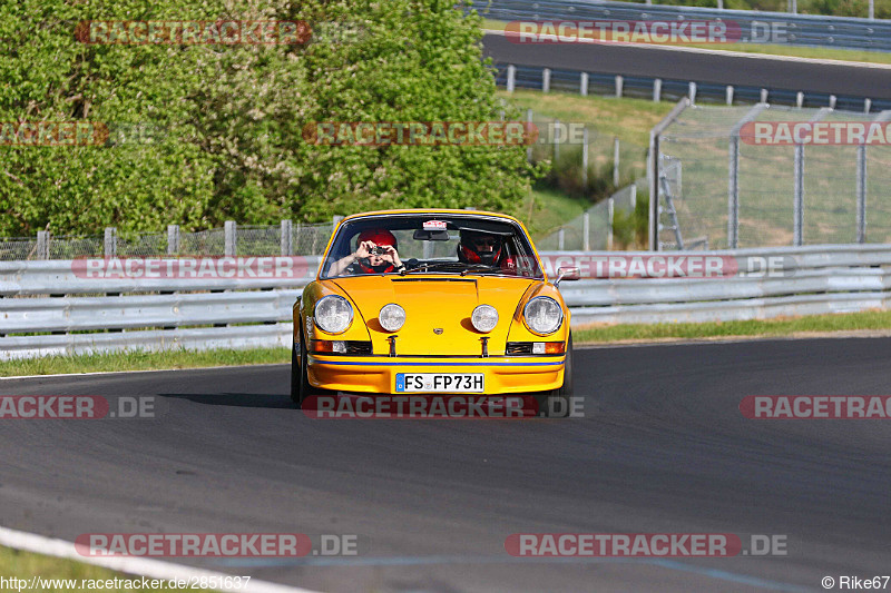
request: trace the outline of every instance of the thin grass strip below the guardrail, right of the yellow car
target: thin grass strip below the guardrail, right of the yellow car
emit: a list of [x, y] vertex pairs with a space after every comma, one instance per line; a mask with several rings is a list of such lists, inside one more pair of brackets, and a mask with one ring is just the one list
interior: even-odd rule
[[891, 329], [891, 312], [779, 317], [746, 322], [705, 324], [629, 324], [591, 325], [572, 330], [576, 344], [597, 344], [623, 340], [692, 339], [732, 337], [779, 337], [830, 332]]

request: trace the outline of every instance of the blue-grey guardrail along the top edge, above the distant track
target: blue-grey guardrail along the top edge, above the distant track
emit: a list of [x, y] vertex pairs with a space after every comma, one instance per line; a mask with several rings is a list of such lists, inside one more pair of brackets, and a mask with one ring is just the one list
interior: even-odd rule
[[486, 6], [483, 16], [502, 21], [515, 20], [630, 20], [677, 21], [717, 20], [738, 23], [744, 40], [753, 31], [764, 31], [763, 23], [782, 23], [782, 37], [773, 36], [770, 43], [791, 46], [836, 47], [891, 51], [891, 21], [850, 17], [825, 17], [820, 14], [791, 14], [785, 12], [754, 12], [748, 10], [718, 10], [701, 7], [669, 7], [635, 4], [630, 2], [595, 1], [541, 1], [541, 0], [492, 0]]

